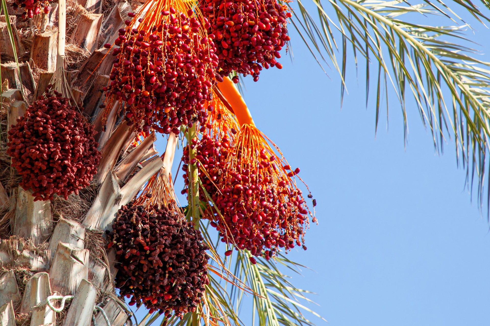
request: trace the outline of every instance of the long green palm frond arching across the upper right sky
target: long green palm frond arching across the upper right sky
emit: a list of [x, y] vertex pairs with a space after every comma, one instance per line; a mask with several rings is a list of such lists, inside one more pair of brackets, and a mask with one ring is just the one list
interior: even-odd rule
[[[372, 82], [376, 86], [375, 130], [384, 102], [388, 119], [391, 100], [383, 94], [393, 88], [395, 101], [402, 109], [406, 139], [407, 100], [412, 97], [415, 105], [408, 107], [417, 108], [438, 151], [443, 151], [447, 139], [454, 138], [458, 164], [466, 168], [470, 189], [477, 179], [478, 201], [482, 204], [489, 169], [486, 154], [490, 135], [490, 63], [476, 59], [478, 51], [466, 45], [471, 43], [464, 33], [469, 26], [422, 25], [400, 18], [411, 13], [407, 17], [445, 15], [452, 22], [459, 19], [442, 1], [437, 3], [444, 10], [429, 1], [411, 4], [402, 0], [328, 0], [328, 7], [320, 0], [312, 1], [319, 24], [301, 0], [297, 1], [299, 10], [294, 10], [293, 23], [317, 61], [326, 62], [322, 57], [326, 53], [328, 62], [339, 72], [343, 83], [341, 101], [347, 65], [352, 64], [348, 50], [351, 48], [356, 66], [360, 59], [366, 62], [367, 103]], [[488, 20], [472, 2], [455, 2], [481, 22]], [[339, 35], [341, 42], [336, 40]], [[339, 51], [342, 59], [336, 57]], [[490, 198], [490, 192], [487, 194]]]

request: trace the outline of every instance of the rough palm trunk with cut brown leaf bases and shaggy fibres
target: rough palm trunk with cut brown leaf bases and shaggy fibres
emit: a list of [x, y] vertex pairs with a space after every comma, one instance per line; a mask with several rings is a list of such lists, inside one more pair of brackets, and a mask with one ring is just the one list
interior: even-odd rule
[[[108, 9], [101, 13], [104, 5]], [[51, 6], [57, 8], [55, 3]], [[22, 95], [17, 89], [22, 87], [19, 87], [16, 79], [18, 72], [3, 74], [3, 71], [10, 71], [7, 69], [10, 67], [2, 64], [2, 79], [7, 78], [11, 87], [1, 89], [4, 107], [0, 110], [0, 127], [3, 128], [0, 134], [0, 167], [4, 170], [0, 173], [2, 326], [89, 326], [93, 316], [98, 326], [105, 326], [107, 322], [111, 326], [122, 326], [128, 314], [123, 302], [115, 296], [115, 253], [106, 250], [103, 231], [111, 227], [117, 210], [129, 202], [163, 165], [153, 146], [155, 135], [147, 137], [137, 150], [131, 146], [136, 131], [134, 127], [121, 123], [118, 102], [111, 109], [104, 129], [100, 123], [101, 109], [98, 106], [102, 100], [101, 88], [109, 80], [114, 57], [107, 49], [99, 47], [117, 38], [118, 30], [125, 27], [127, 12], [136, 8], [131, 8], [125, 1], [112, 3], [110, 0], [98, 4], [87, 1], [85, 8], [80, 5], [75, 8], [73, 1], [68, 1], [66, 6], [67, 43], [71, 43], [71, 49], [75, 52], [78, 51], [75, 53], [78, 57], [75, 55], [74, 59], [80, 60], [87, 50], [93, 51], [84, 63], [78, 63], [77, 71], [69, 73], [72, 80], [68, 80], [68, 83], [73, 93], [77, 94], [78, 104], [83, 106], [80, 109], [100, 131], [97, 137], [103, 157], [93, 184], [79, 195], [71, 195], [68, 200], [56, 197], [53, 201], [34, 201], [28, 191], [18, 186], [19, 178], [9, 168], [4, 129], [5, 125], [15, 124], [16, 119], [24, 114], [26, 107], [32, 103], [32, 96]], [[91, 8], [96, 9], [91, 12]], [[32, 22], [35, 28], [43, 32], [56, 28], [56, 25], [63, 27], [63, 22], [57, 22], [58, 17], [59, 14], [51, 12], [42, 14]], [[91, 23], [88, 24], [90, 19]], [[17, 19], [19, 21], [20, 18]], [[77, 27], [70, 30], [69, 25]], [[18, 33], [17, 30], [15, 32]], [[55, 47], [60, 49], [65, 46], [63, 41], [51, 42], [49, 35], [44, 40], [47, 50], [36, 50], [36, 62], [52, 63]], [[18, 37], [25, 44], [32, 44], [33, 38], [41, 42], [44, 36], [24, 33]], [[31, 57], [30, 51], [21, 57]], [[31, 65], [33, 62], [31, 60]], [[60, 64], [57, 63], [58, 66]], [[35, 72], [35, 84], [38, 86], [31, 93], [42, 94], [46, 81], [54, 71], [39, 71], [36, 66], [27, 68], [27, 71], [32, 69]], [[101, 307], [103, 312], [99, 308], [94, 311], [95, 305]]]

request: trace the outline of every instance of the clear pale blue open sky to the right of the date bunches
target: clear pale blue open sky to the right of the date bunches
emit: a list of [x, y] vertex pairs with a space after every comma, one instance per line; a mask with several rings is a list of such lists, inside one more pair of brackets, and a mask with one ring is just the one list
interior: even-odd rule
[[[489, 30], [475, 27], [473, 39], [490, 52]], [[291, 38], [293, 62], [282, 59], [282, 70], [264, 71], [257, 83], [246, 78], [244, 97], [257, 127], [301, 168], [318, 201], [308, 250], [290, 254], [312, 269], [293, 283], [317, 293], [319, 306], [308, 306], [328, 324], [312, 319], [319, 326], [488, 325], [489, 223], [464, 188], [453, 144], [437, 154], [410, 101], [406, 147], [394, 101], [389, 129], [382, 113], [375, 134], [364, 69], [356, 77], [349, 59], [341, 109], [336, 72], [326, 76], [294, 31]], [[158, 146], [163, 152], [165, 143]]]

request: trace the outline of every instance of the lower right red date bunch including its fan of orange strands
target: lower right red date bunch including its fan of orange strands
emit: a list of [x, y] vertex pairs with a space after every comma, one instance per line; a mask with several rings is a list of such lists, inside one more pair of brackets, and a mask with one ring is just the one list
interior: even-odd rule
[[[308, 216], [313, 215], [296, 187], [299, 168], [292, 171], [253, 125], [243, 124], [234, 144], [218, 184], [220, 191], [213, 198], [222, 218], [215, 216], [211, 225], [221, 241], [266, 260], [279, 250], [287, 252], [295, 246], [306, 250], [305, 230]], [[250, 261], [256, 262], [254, 257]]]

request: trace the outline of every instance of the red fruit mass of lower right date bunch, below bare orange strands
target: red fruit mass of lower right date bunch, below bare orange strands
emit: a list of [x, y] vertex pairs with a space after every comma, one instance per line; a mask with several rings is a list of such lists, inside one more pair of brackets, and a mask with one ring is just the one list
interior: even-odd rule
[[306, 250], [304, 227], [309, 211], [301, 190], [273, 171], [281, 169], [274, 163], [276, 157], [265, 154], [263, 150], [254, 158], [258, 167], [241, 164], [228, 169], [214, 199], [223, 218], [215, 218], [213, 226], [223, 242], [269, 260], [279, 248]]

